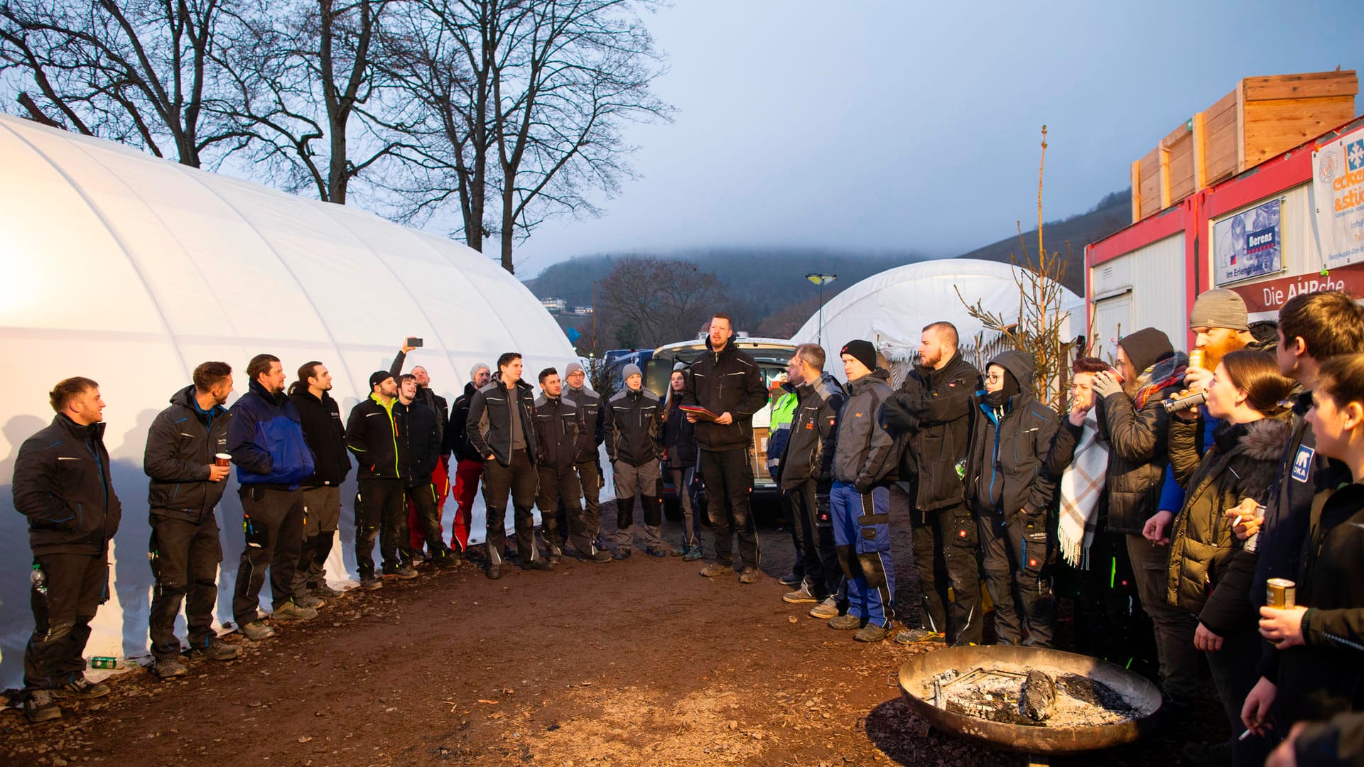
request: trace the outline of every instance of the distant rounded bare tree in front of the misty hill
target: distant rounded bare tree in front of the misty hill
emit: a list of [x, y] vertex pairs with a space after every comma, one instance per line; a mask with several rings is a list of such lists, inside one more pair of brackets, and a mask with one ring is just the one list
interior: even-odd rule
[[597, 287], [597, 321], [607, 323], [623, 347], [656, 347], [694, 337], [726, 302], [713, 272], [690, 261], [627, 255]]

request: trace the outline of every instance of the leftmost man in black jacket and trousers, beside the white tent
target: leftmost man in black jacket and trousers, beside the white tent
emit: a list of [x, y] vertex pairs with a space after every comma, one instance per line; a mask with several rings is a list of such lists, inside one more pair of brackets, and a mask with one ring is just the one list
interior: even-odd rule
[[23, 715], [61, 718], [59, 697], [102, 697], [85, 676], [90, 621], [109, 592], [109, 542], [123, 506], [109, 478], [104, 399], [89, 378], [48, 393], [56, 416], [23, 441], [14, 463], [14, 508], [27, 517], [33, 551], [33, 636], [23, 648]]

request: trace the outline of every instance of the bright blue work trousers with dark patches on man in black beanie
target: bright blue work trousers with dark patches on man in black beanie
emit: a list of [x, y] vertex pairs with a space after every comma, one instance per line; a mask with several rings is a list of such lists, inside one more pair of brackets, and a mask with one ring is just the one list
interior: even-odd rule
[[891, 561], [891, 490], [858, 493], [835, 482], [829, 493], [833, 543], [847, 581], [848, 616], [888, 626], [895, 617], [895, 564]]

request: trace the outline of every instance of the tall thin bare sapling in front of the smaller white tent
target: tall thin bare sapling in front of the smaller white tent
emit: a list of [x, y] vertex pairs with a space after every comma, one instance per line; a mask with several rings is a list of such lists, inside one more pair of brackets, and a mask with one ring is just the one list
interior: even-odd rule
[[[1046, 126], [1042, 126], [1042, 156], [1037, 171], [1037, 250], [1028, 251], [1023, 239], [1023, 225], [1018, 224], [1022, 258], [1009, 255], [1013, 265], [1013, 281], [1019, 288], [1018, 315], [1007, 317], [1003, 311], [990, 311], [977, 299], [967, 303], [958, 289], [958, 299], [966, 306], [967, 314], [985, 326], [985, 330], [998, 334], [1004, 348], [1026, 352], [1034, 360], [1033, 393], [1053, 408], [1065, 404], [1067, 364], [1069, 360], [1068, 340], [1061, 336], [1065, 314], [1061, 299], [1065, 288], [1063, 281], [1069, 263], [1067, 252], [1049, 252], [1042, 235], [1042, 173], [1046, 168]], [[988, 344], [977, 338], [978, 348]], [[988, 360], [981, 360], [988, 362]], [[1019, 384], [1023, 384], [1022, 381]]]

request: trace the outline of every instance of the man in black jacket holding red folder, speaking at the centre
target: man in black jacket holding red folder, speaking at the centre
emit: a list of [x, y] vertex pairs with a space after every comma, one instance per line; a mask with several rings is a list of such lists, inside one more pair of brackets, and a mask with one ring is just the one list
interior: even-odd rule
[[701, 569], [715, 577], [734, 569], [732, 535], [739, 538], [743, 562], [739, 583], [758, 580], [758, 532], [749, 509], [753, 493], [753, 414], [768, 401], [757, 362], [734, 348], [728, 314], [716, 313], [702, 353], [687, 370], [683, 407], [705, 408], [713, 420], [689, 414], [696, 423], [707, 516], [715, 530], [715, 562]]

